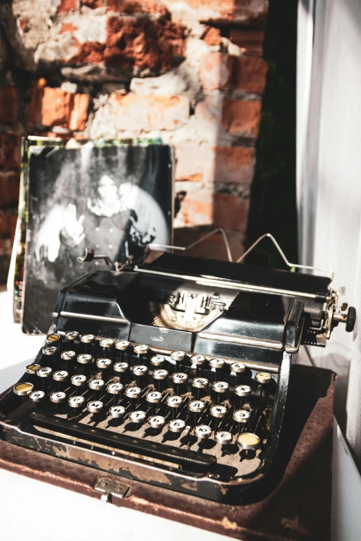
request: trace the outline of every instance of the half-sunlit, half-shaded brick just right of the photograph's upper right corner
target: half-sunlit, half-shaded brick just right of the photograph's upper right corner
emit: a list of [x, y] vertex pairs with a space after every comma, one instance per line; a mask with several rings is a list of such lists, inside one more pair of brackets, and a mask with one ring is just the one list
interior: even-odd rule
[[246, 146], [178, 144], [176, 173], [178, 182], [247, 184], [254, 174], [254, 149]]

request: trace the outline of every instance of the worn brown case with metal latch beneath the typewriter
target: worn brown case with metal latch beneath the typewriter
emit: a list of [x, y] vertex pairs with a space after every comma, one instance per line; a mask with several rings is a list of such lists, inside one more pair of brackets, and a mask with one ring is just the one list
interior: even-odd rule
[[[243, 541], [330, 538], [333, 383], [330, 370], [295, 365], [272, 475], [246, 505], [202, 500], [0, 441], [0, 467], [91, 497], [100, 480], [124, 486], [129, 507]], [[122, 488], [122, 487], [120, 487]]]

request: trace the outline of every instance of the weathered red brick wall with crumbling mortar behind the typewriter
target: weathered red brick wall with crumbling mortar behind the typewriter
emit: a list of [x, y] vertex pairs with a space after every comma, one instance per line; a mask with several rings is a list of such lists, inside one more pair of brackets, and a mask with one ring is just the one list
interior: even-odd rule
[[[176, 242], [223, 227], [239, 256], [267, 8], [268, 0], [1, 3], [0, 250], [15, 224], [20, 138], [33, 133], [174, 144]], [[197, 253], [225, 257], [220, 238]]]

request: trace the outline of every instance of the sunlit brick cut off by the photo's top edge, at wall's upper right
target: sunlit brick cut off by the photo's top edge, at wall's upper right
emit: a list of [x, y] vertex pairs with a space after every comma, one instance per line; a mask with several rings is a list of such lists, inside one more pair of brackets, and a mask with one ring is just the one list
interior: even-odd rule
[[[167, 0], [167, 5], [179, 0]], [[203, 23], [239, 23], [261, 26], [266, 23], [268, 0], [185, 0]]]

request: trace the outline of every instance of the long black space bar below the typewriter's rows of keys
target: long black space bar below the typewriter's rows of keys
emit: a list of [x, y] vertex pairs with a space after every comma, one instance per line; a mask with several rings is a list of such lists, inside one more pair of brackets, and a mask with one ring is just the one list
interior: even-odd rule
[[107, 432], [102, 428], [93, 428], [84, 424], [75, 423], [68, 419], [61, 419], [41, 412], [32, 412], [31, 419], [34, 424], [43, 428], [50, 428], [57, 433], [81, 437], [89, 444], [107, 445], [113, 449], [145, 455], [154, 459], [171, 462], [181, 466], [187, 471], [206, 473], [216, 464], [216, 457], [197, 453], [188, 449], [180, 449], [170, 445], [150, 442], [147, 439]]

